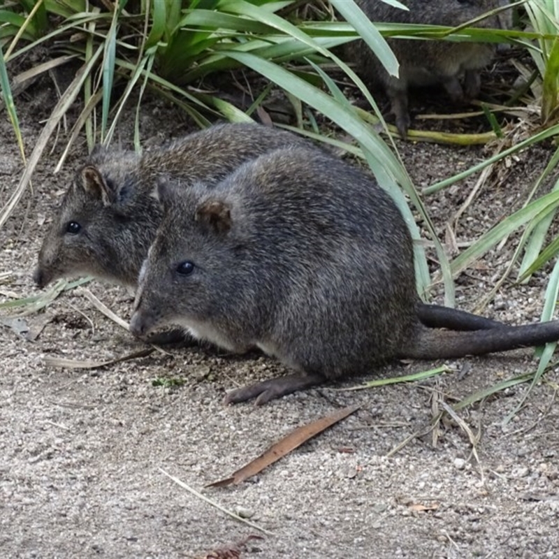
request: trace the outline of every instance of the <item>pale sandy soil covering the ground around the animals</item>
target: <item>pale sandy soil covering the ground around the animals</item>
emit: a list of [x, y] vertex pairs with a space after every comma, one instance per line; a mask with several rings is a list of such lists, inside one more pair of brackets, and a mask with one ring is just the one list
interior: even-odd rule
[[[52, 104], [52, 103], [51, 103]], [[17, 101], [31, 151], [44, 117], [30, 94]], [[161, 124], [168, 122], [168, 126]], [[175, 110], [147, 103], [146, 141], [190, 128]], [[162, 134], [161, 134], [162, 132]], [[131, 121], [120, 130], [131, 141]], [[155, 139], [154, 139], [155, 138]], [[28, 191], [0, 231], [1, 300], [36, 293], [31, 281], [41, 238], [59, 196], [85, 156], [81, 143], [63, 170], [53, 169], [64, 133], [44, 157]], [[523, 201], [551, 151], [536, 147], [482, 189], [456, 229], [476, 238]], [[420, 187], [484, 157], [480, 148], [402, 145]], [[1, 202], [22, 165], [6, 118], [0, 122]], [[445, 224], [477, 177], [426, 199], [444, 240]], [[513, 240], [514, 241], [514, 240]], [[458, 281], [470, 309], [504, 270], [514, 243], [493, 252]], [[546, 273], [526, 286], [505, 284], [486, 307], [492, 317], [532, 321], [542, 307]], [[87, 286], [129, 319], [124, 289]], [[559, 546], [559, 407], [557, 370], [528, 396], [511, 423], [505, 416], [525, 384], [460, 410], [430, 430], [433, 416], [470, 393], [535, 368], [532, 351], [468, 358], [426, 382], [348, 392], [363, 378], [290, 395], [262, 408], [224, 407], [226, 389], [280, 374], [259, 354], [228, 356], [208, 347], [170, 348], [99, 370], [45, 365], [45, 358], [105, 359], [143, 347], [106, 319], [79, 291], [26, 318], [33, 341], [0, 328], [0, 555], [3, 557], [204, 557], [249, 535], [242, 557], [423, 558], [557, 556]], [[393, 363], [377, 377], [441, 363]], [[154, 386], [154, 379], [184, 384]], [[342, 390], [340, 390], [342, 389]], [[304, 423], [340, 407], [361, 409], [240, 486], [204, 489]], [[414, 433], [402, 449], [386, 455]], [[229, 518], [160, 469], [202, 491], [273, 535]]]

